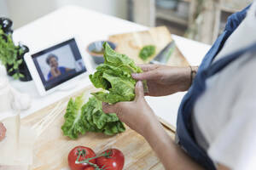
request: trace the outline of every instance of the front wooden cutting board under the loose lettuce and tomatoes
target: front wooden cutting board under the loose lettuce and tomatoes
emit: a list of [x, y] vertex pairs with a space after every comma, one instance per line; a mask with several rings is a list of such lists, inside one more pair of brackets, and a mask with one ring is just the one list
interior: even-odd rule
[[[96, 91], [92, 86], [84, 88], [78, 94]], [[78, 95], [74, 94], [74, 96]], [[62, 99], [64, 103], [70, 97]], [[38, 111], [31, 116], [26, 116], [21, 120], [21, 124], [32, 126], [40, 121], [54, 108], [56, 104], [50, 105], [42, 111]], [[84, 145], [95, 150], [96, 154], [109, 148], [122, 150], [125, 155], [125, 168], [131, 170], [164, 169], [159, 159], [154, 155], [154, 151], [142, 136], [126, 127], [125, 133], [120, 133], [113, 137], [102, 133], [86, 133], [77, 140], [68, 139], [62, 135], [61, 125], [64, 122], [63, 111], [52, 122], [49, 127], [38, 137], [33, 148], [33, 170], [61, 170], [68, 169], [67, 155], [73, 147]], [[172, 133], [172, 137], [173, 137]]]

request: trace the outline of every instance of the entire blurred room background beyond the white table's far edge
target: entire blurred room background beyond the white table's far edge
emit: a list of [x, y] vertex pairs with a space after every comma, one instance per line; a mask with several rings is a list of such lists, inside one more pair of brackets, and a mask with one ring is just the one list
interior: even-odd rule
[[15, 29], [65, 5], [78, 5], [144, 26], [167, 26], [172, 34], [211, 44], [230, 14], [253, 0], [0, 0], [0, 16]]

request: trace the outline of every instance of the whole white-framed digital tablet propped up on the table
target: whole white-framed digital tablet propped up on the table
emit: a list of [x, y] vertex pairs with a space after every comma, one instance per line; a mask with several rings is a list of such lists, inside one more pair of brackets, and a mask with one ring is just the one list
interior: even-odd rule
[[91, 71], [90, 60], [83, 57], [77, 37], [26, 54], [25, 61], [40, 95], [67, 88], [71, 80], [88, 76]]

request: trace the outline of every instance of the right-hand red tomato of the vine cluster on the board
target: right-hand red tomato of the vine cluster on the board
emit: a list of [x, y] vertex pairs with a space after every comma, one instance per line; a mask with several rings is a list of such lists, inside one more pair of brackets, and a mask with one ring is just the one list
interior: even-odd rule
[[109, 152], [109, 157], [101, 156], [96, 158], [97, 166], [108, 170], [122, 170], [125, 164], [125, 156], [123, 153], [117, 149], [105, 150], [103, 153]]

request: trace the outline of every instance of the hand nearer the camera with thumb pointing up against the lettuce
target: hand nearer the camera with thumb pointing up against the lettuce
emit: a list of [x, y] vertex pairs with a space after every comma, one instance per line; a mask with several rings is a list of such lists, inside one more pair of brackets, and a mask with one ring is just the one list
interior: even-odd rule
[[[130, 102], [119, 102], [114, 105], [102, 104], [105, 113], [116, 113], [121, 122], [131, 127], [141, 135], [147, 134], [147, 127], [159, 123], [154, 111], [144, 99], [143, 83], [137, 82], [135, 88], [136, 98]], [[155, 123], [156, 122], [156, 123]]]

